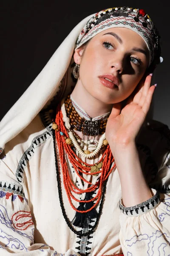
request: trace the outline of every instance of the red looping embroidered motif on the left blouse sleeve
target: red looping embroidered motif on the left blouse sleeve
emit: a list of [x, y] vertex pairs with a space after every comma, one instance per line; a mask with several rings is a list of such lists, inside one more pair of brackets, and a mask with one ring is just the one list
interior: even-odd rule
[[17, 230], [26, 230], [30, 225], [34, 225], [31, 212], [19, 211], [11, 218], [12, 224]]

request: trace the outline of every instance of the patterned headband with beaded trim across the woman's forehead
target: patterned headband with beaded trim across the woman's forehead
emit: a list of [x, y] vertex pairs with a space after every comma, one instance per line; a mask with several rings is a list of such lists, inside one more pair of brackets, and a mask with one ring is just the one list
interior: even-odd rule
[[144, 10], [129, 7], [115, 7], [97, 12], [85, 24], [79, 34], [75, 49], [79, 48], [105, 29], [126, 27], [137, 32], [144, 39], [150, 54], [149, 65], [163, 61], [161, 55], [160, 35], [149, 15]]

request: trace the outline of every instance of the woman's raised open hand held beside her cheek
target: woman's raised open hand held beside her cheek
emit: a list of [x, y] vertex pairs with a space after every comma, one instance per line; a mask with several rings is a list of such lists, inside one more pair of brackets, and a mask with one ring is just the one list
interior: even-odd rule
[[[129, 145], [135, 138], [145, 120], [153, 97], [155, 85], [150, 87], [151, 76], [141, 81], [134, 92], [122, 102], [113, 105], [106, 125], [105, 137], [112, 145]], [[122, 110], [121, 110], [122, 109]]]

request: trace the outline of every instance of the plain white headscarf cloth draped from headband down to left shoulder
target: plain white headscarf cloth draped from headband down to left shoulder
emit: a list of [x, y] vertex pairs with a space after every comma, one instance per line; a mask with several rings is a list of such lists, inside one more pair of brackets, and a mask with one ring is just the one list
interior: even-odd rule
[[[76, 40], [82, 27], [93, 15], [84, 18], [74, 27], [40, 74], [3, 117], [0, 122], [0, 153], [5, 148], [5, 144], [23, 131], [42, 108], [48, 105], [48, 102], [61, 90], [60, 81], [71, 64]], [[66, 89], [69, 90], [69, 88]], [[65, 88], [62, 88], [62, 92], [66, 94], [67, 90], [65, 92], [64, 90]]]

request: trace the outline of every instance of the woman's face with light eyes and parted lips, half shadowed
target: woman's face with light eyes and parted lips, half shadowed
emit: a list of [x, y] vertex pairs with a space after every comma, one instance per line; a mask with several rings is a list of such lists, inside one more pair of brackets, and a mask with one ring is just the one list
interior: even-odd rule
[[[136, 32], [111, 28], [94, 36], [86, 47], [76, 49], [74, 61], [80, 64], [77, 83], [94, 98], [113, 104], [126, 99], [139, 84], [149, 63], [149, 51]], [[106, 87], [108, 80], [101, 79], [106, 74], [113, 76], [108, 76], [114, 80], [112, 87]]]

